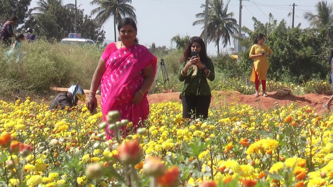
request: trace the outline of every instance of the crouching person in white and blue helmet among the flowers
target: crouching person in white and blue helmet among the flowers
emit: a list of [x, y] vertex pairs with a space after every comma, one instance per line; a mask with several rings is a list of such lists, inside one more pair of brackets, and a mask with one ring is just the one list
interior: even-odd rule
[[65, 93], [58, 94], [51, 102], [49, 110], [56, 108], [64, 109], [66, 106], [73, 107], [78, 104], [78, 101], [85, 102], [86, 95], [84, 90], [79, 85], [72, 85]]

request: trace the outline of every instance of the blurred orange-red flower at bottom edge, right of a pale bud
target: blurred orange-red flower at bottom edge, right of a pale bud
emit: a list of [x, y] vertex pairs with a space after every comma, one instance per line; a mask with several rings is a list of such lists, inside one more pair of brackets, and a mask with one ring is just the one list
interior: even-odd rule
[[177, 187], [178, 186], [179, 169], [177, 166], [172, 166], [166, 170], [164, 175], [157, 178], [157, 183], [161, 187]]

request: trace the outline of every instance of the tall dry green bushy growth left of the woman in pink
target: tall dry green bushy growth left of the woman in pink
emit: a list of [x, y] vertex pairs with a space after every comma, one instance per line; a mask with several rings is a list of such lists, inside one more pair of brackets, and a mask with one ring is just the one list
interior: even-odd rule
[[[15, 93], [17, 87], [22, 92], [45, 93], [51, 87], [69, 87], [74, 83], [89, 89], [103, 50], [95, 45], [63, 45], [39, 40], [23, 42], [21, 51], [23, 57], [18, 63], [15, 59], [1, 58], [0, 67], [6, 71], [0, 73], [0, 81], [13, 83], [1, 84], [2, 91]], [[15, 86], [15, 83], [23, 85]]]

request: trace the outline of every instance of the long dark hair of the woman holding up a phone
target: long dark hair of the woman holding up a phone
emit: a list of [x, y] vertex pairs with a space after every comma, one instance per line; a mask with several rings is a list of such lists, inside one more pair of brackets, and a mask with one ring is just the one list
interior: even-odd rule
[[208, 58], [207, 57], [207, 52], [206, 52], [206, 46], [205, 46], [205, 43], [203, 42], [203, 40], [200, 37], [193, 36], [192, 38], [189, 39], [189, 41], [188, 41], [188, 43], [185, 47], [184, 56], [181, 58], [180, 63], [182, 63], [186, 59], [189, 59], [189, 58], [192, 57], [191, 47], [192, 47], [194, 42], [197, 42], [201, 46], [201, 51], [199, 53], [199, 57], [201, 59], [201, 62], [203, 61], [203, 63], [204, 63], [204, 61]]

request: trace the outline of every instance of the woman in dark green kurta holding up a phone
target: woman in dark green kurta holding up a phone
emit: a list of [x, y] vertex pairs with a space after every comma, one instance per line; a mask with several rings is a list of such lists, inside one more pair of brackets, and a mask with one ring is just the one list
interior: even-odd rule
[[[191, 52], [197, 51], [198, 57]], [[180, 92], [183, 118], [208, 117], [210, 88], [207, 82], [215, 79], [214, 65], [207, 57], [206, 47], [200, 37], [190, 38], [181, 59], [178, 79], [184, 82]]]

